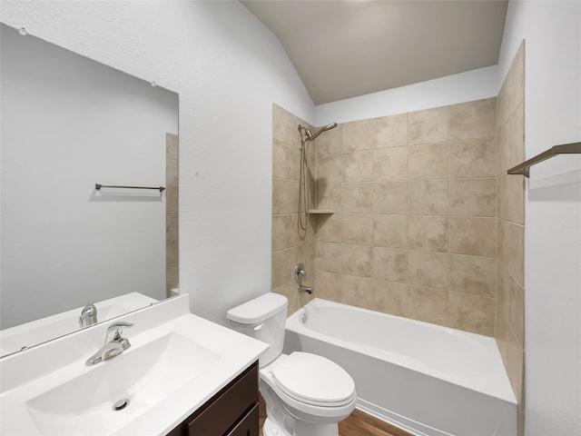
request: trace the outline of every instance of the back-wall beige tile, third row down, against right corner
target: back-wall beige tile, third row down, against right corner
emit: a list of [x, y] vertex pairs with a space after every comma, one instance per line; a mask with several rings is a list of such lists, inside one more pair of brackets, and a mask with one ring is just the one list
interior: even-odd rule
[[450, 215], [497, 216], [497, 180], [450, 180]]

